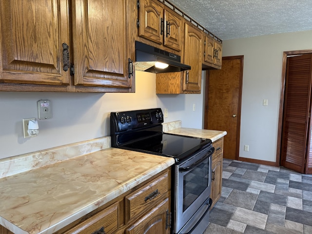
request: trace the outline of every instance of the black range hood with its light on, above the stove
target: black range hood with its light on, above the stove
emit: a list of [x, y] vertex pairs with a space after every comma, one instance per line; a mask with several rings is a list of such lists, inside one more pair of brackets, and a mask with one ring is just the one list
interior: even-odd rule
[[[191, 66], [180, 62], [181, 57], [136, 41], [136, 70], [152, 73], [181, 72], [191, 70]], [[159, 68], [157, 65], [168, 66]], [[155, 66], [156, 64], [156, 66]]]

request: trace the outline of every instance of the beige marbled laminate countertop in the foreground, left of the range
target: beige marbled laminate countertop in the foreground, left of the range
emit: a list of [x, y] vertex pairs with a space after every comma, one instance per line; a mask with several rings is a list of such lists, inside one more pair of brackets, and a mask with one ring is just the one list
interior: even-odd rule
[[52, 234], [173, 164], [107, 148], [1, 178], [0, 224], [15, 234]]

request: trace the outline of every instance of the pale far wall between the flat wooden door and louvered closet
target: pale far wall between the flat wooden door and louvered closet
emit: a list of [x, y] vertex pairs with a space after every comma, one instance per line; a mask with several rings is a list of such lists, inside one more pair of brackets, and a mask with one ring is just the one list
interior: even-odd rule
[[312, 31], [223, 41], [224, 57], [244, 55], [240, 157], [275, 162], [282, 56], [303, 49], [312, 49]]

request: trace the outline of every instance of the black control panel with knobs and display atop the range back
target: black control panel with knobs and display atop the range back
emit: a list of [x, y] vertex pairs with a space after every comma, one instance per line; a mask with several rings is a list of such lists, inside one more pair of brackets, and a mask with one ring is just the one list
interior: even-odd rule
[[[111, 112], [111, 133], [112, 131], [122, 132], [130, 129], [151, 126], [163, 123], [163, 114], [160, 108]], [[114, 127], [114, 129], [112, 129]]]

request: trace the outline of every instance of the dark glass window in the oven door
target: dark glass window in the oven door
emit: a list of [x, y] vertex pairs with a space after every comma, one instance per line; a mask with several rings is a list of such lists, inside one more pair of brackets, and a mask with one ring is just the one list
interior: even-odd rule
[[207, 158], [183, 176], [183, 212], [209, 185], [209, 158]]

